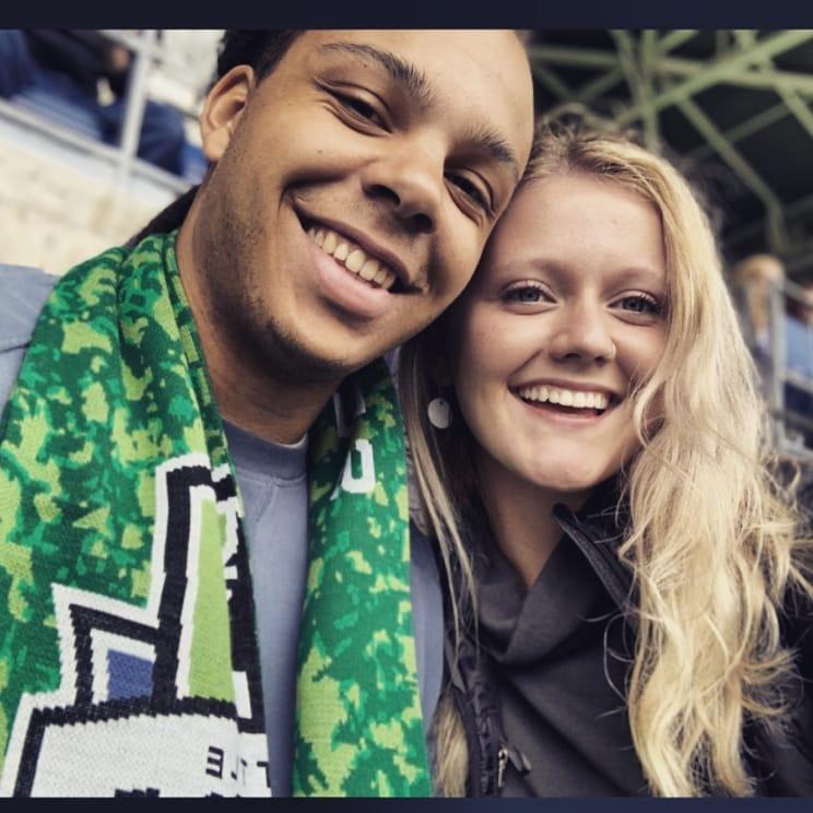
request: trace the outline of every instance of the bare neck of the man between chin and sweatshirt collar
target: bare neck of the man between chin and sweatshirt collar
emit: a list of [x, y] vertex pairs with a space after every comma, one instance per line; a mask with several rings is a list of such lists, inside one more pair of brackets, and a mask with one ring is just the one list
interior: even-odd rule
[[292, 381], [257, 354], [246, 353], [211, 316], [192, 251], [189, 219], [176, 254], [221, 415], [264, 440], [294, 444], [314, 424], [340, 381]]

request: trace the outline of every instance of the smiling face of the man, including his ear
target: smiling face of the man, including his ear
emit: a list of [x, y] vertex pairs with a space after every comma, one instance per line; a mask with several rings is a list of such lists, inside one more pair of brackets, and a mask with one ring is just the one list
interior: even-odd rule
[[532, 136], [512, 32], [306, 32], [210, 94], [196, 264], [228, 341], [318, 380], [462, 291]]

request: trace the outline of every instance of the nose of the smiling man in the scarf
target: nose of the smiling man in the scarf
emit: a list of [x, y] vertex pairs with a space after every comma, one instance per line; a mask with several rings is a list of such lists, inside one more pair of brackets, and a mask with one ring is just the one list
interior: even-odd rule
[[362, 186], [410, 231], [432, 233], [443, 203], [444, 156], [438, 148], [404, 142], [364, 168]]

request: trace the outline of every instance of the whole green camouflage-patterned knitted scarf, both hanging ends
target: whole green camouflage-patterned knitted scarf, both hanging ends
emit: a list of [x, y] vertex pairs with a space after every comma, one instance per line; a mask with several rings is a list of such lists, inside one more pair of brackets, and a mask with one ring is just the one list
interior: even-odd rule
[[[188, 699], [175, 697], [161, 697], [161, 708], [166, 712], [172, 703], [174, 714], [182, 707], [189, 719], [222, 718], [233, 723], [229, 742], [236, 751], [228, 756], [235, 764], [240, 754], [250, 756], [249, 767], [259, 769], [267, 761], [259, 680], [245, 672], [246, 663], [256, 665], [257, 648], [247, 557], [239, 584], [224, 589], [226, 559], [236, 556], [226, 532], [232, 528], [234, 537], [234, 523], [225, 517], [232, 510], [239, 525], [239, 495], [174, 246], [175, 235], [153, 236], [131, 252], [110, 249], [66, 274], [40, 314], [0, 423], [0, 750], [9, 765], [10, 747], [16, 749], [15, 765], [24, 762], [20, 709], [31, 714], [32, 702], [62, 698], [66, 687], [60, 645], [64, 661], [69, 636], [55, 610], [57, 590], [62, 596], [64, 586], [79, 596], [102, 597], [107, 605], [85, 604], [115, 613], [125, 604], [149, 609], [156, 590], [163, 590], [163, 602], [172, 590], [187, 589], [155, 572], [161, 559], [154, 539], [156, 514], [166, 514], [164, 478], [190, 456], [196, 467], [202, 460], [207, 471], [220, 471], [216, 479], [231, 481], [235, 495], [201, 508], [203, 527], [193, 545], [198, 570], [189, 577], [197, 598], [192, 614], [176, 625], [195, 625], [195, 634], [178, 649], [185, 652], [178, 664], [184, 679], [169, 675], [173, 691], [182, 684], [179, 694], [207, 698], [211, 710], [201, 712], [198, 705], [188, 711], [182, 706]], [[294, 785], [307, 794], [428, 794], [409, 591], [403, 429], [384, 363], [358, 380], [366, 410], [351, 435], [339, 436], [329, 405], [311, 437], [311, 561]], [[232, 503], [237, 508], [225, 510]], [[243, 605], [250, 612], [239, 617], [235, 594], [248, 596]], [[176, 604], [179, 616], [186, 604], [180, 599]], [[156, 634], [164, 635], [163, 627]], [[229, 641], [231, 657], [223, 657]], [[236, 719], [235, 706], [246, 674], [248, 723]], [[234, 675], [244, 680], [233, 683]], [[185, 737], [189, 753], [200, 745], [185, 718], [148, 711], [156, 724], [176, 726], [170, 729], [176, 757]], [[98, 708], [85, 709], [85, 721], [102, 717]], [[143, 714], [136, 721], [142, 722]], [[158, 762], [167, 740], [166, 727], [161, 731]], [[217, 731], [221, 742], [226, 729]], [[109, 792], [94, 783], [98, 766], [89, 763], [86, 773], [84, 767], [74, 777], [74, 792]], [[167, 779], [162, 794], [267, 791], [243, 778], [236, 786], [212, 786], [213, 768], [199, 756], [182, 770], [192, 778], [176, 786]], [[25, 771], [34, 768], [23, 765], [20, 775]], [[7, 770], [2, 787], [13, 789], [14, 781], [21, 787]]]

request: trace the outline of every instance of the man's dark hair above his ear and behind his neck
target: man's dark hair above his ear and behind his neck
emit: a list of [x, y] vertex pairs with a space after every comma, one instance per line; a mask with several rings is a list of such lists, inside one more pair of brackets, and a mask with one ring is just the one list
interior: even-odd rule
[[[293, 30], [226, 31], [217, 46], [217, 68], [212, 86], [238, 64], [251, 66], [257, 81], [262, 81], [273, 72], [299, 34], [302, 34], [301, 31]], [[166, 209], [158, 212], [138, 234], [133, 235], [127, 245], [134, 247], [151, 234], [164, 234], [178, 228], [187, 216], [199, 189], [200, 184], [184, 192]]]

